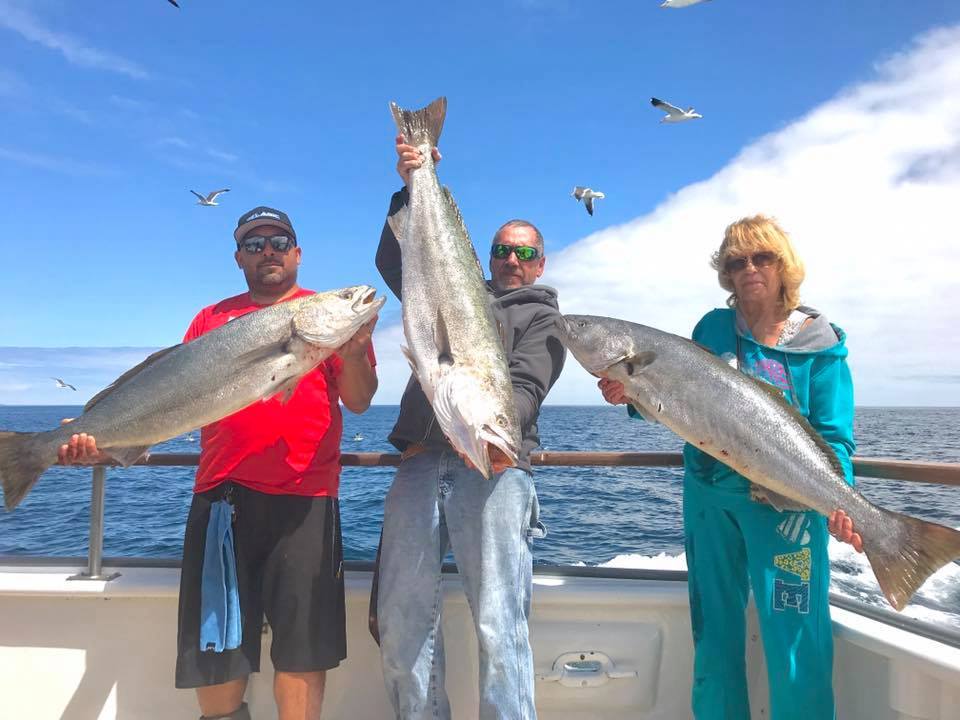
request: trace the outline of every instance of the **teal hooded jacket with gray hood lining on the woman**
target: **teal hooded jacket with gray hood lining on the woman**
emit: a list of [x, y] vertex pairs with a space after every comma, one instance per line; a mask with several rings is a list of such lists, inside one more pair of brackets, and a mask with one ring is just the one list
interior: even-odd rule
[[[693, 339], [734, 367], [781, 390], [837, 453], [846, 480], [853, 484], [853, 382], [847, 366], [846, 335], [809, 307], [798, 308], [813, 320], [777, 347], [757, 342], [746, 322], [729, 308], [708, 312]], [[633, 407], [630, 414], [637, 416]], [[773, 428], [770, 428], [771, 433]], [[750, 483], [739, 473], [687, 443], [684, 478], [703, 489], [749, 497]]]

